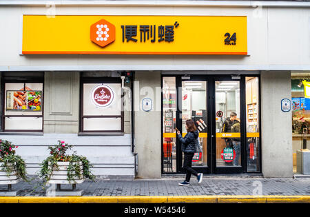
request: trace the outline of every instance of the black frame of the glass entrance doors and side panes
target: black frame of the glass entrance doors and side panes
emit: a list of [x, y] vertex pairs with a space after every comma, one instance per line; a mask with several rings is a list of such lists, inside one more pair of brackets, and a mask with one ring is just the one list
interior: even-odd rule
[[[182, 80], [183, 76], [190, 76], [190, 79]], [[209, 125], [207, 128], [207, 167], [194, 167], [197, 172], [203, 172], [204, 174], [260, 174], [262, 171], [262, 159], [261, 159], [261, 123], [260, 123], [260, 75], [258, 74], [241, 74], [238, 75], [240, 79], [232, 79], [234, 74], [161, 74], [161, 88], [163, 88], [163, 77], [175, 77], [176, 78], [176, 127], [182, 130], [182, 94], [179, 91], [182, 90], [182, 81], [206, 81], [207, 82], [207, 118]], [[247, 111], [245, 103], [246, 94], [246, 77], [258, 77], [258, 125], [259, 133], [259, 158], [260, 170], [257, 172], [247, 172]], [[215, 95], [215, 81], [239, 81], [240, 82], [240, 167], [216, 167], [216, 95]], [[163, 102], [163, 94], [161, 94], [161, 102]], [[213, 136], [213, 137], [212, 137]], [[178, 141], [177, 141], [178, 143]], [[176, 147], [176, 172], [164, 172], [163, 171], [163, 103], [161, 103], [161, 171], [162, 174], [180, 174], [185, 173], [182, 170], [182, 151], [180, 145]]]

